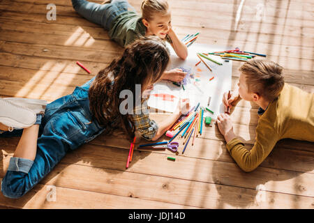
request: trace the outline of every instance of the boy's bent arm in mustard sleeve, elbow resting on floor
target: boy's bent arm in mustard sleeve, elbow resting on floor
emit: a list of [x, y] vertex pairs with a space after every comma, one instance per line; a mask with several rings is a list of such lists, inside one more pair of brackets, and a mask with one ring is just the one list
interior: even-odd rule
[[244, 147], [244, 143], [235, 136], [230, 116], [220, 114], [217, 118], [217, 125], [227, 142], [227, 151], [239, 167], [246, 172], [256, 169], [279, 140], [274, 128], [267, 128], [267, 123], [260, 121], [256, 128], [255, 144], [251, 150], [248, 150]]

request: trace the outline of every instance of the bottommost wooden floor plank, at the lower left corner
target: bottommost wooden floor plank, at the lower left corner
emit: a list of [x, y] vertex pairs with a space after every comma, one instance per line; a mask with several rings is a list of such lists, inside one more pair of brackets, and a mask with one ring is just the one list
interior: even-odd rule
[[[56, 194], [52, 197], [52, 190]], [[190, 209], [194, 207], [181, 206], [173, 203], [148, 201], [129, 197], [115, 196], [84, 190], [73, 190], [51, 185], [36, 185], [24, 197], [8, 199], [0, 194], [0, 204], [14, 208], [25, 209]]]

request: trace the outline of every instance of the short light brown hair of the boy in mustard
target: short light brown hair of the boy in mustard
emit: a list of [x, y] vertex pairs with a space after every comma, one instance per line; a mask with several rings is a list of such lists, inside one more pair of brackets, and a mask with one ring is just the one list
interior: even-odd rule
[[283, 67], [262, 59], [246, 61], [239, 71], [246, 75], [249, 93], [258, 93], [263, 98], [272, 101], [283, 90]]

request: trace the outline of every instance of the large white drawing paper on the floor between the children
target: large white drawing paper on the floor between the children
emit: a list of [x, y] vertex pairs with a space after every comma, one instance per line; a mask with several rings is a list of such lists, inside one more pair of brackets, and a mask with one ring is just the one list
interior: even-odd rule
[[[193, 45], [188, 47], [188, 58], [185, 61], [175, 54], [174, 49], [172, 49], [170, 45], [169, 49], [171, 59], [170, 66], [167, 70], [179, 67], [190, 68], [190, 73], [193, 74], [194, 79], [190, 78], [190, 83], [184, 86], [185, 91], [182, 87], [175, 86], [170, 81], [163, 80], [154, 84], [154, 89], [151, 91], [151, 96], [147, 101], [147, 105], [165, 112], [174, 112], [180, 98], [189, 98], [191, 107], [200, 102], [200, 106], [204, 108], [209, 107], [209, 109], [214, 112], [214, 114], [209, 112], [204, 113], [204, 116], [211, 116], [211, 118], [216, 119], [218, 114], [225, 112], [222, 99], [223, 93], [231, 89], [232, 61], [226, 62], [225, 60], [220, 59], [219, 56], [209, 55], [209, 57], [215, 61], [223, 63], [222, 66], [219, 66], [212, 61], [202, 58], [211, 68], [212, 72], [202, 62], [197, 66], [195, 66], [195, 64], [200, 61], [197, 57], [197, 53], [223, 51], [226, 50], [226, 48], [218, 47], [216, 45], [193, 43]], [[214, 79], [209, 81], [211, 77], [214, 77]], [[155, 95], [158, 95], [159, 97], [156, 97]], [[211, 102], [210, 105], [207, 106], [210, 96]]]

